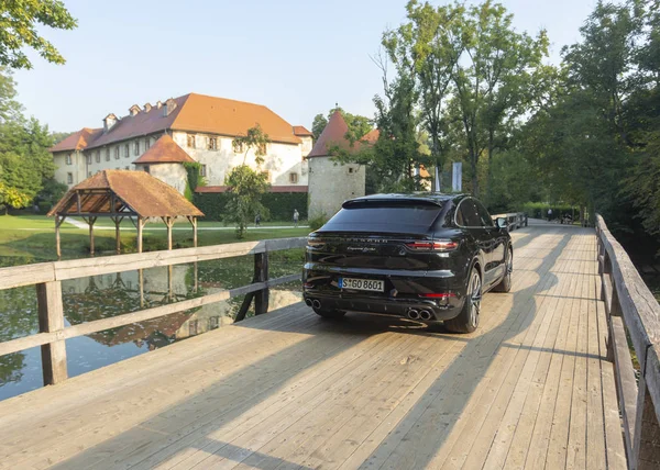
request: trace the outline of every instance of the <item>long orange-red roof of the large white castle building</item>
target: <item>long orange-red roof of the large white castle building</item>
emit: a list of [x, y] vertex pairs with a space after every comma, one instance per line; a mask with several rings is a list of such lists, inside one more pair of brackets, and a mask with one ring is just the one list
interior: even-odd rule
[[[234, 137], [245, 135], [246, 131], [250, 127], [254, 127], [257, 123], [268, 134], [272, 142], [285, 144], [299, 144], [301, 142], [294, 133], [294, 126], [261, 104], [197, 93], [184, 94], [173, 100], [176, 107], [169, 115], [166, 115], [165, 112], [167, 109], [166, 104], [163, 104], [162, 108], [153, 105], [148, 111], [142, 110], [135, 115], [129, 114], [121, 118], [107, 132], [103, 132], [102, 128], [88, 130], [95, 132], [94, 139], [86, 141], [81, 148], [101, 147], [166, 130], [205, 132]], [[305, 130], [305, 127], [302, 128]], [[82, 130], [78, 133], [85, 131]], [[70, 142], [73, 141], [69, 141], [69, 138], [73, 138], [73, 136], [63, 141], [67, 142], [65, 146], [72, 146]], [[58, 146], [59, 144], [53, 148]], [[63, 149], [69, 148], [63, 147], [56, 150], [52, 149], [52, 152]]]

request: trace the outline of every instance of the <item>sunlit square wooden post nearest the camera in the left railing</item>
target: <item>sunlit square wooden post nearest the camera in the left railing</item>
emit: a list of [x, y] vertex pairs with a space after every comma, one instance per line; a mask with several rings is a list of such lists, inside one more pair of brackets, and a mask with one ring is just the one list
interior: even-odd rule
[[[40, 333], [54, 333], [64, 329], [62, 282], [52, 281], [36, 284], [36, 299], [38, 302]], [[44, 385], [54, 385], [66, 380], [66, 345], [64, 339], [42, 345], [42, 369]]]

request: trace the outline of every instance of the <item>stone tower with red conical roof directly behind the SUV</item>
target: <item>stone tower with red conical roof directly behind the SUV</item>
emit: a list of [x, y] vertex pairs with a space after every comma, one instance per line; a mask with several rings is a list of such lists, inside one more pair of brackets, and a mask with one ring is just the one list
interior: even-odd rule
[[364, 195], [365, 168], [358, 164], [337, 164], [331, 150], [336, 147], [358, 152], [359, 143], [351, 145], [346, 138], [349, 126], [339, 111], [328, 121], [326, 128], [307, 156], [309, 163], [309, 219], [331, 217], [346, 199]]

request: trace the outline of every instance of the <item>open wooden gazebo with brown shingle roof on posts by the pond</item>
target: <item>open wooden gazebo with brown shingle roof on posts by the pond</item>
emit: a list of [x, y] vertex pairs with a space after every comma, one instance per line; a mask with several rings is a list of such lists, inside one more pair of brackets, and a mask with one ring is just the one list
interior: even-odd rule
[[121, 251], [120, 224], [129, 217], [138, 228], [138, 253], [142, 253], [142, 234], [148, 219], [162, 219], [167, 226], [167, 248], [172, 249], [172, 227], [177, 217], [193, 225], [197, 246], [197, 217], [204, 213], [176, 189], [145, 171], [102, 170], [75, 186], [48, 212], [55, 216], [57, 257], [62, 256], [59, 226], [68, 216], [78, 216], [89, 225], [89, 251], [94, 255], [94, 224], [98, 217], [114, 222], [117, 253]]

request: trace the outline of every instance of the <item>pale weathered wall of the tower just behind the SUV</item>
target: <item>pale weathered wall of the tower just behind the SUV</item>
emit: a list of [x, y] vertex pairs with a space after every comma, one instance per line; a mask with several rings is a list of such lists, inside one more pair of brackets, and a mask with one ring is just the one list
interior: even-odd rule
[[330, 157], [309, 158], [309, 219], [331, 217], [346, 199], [364, 195], [365, 167], [334, 165]]

